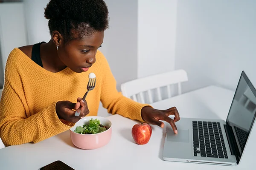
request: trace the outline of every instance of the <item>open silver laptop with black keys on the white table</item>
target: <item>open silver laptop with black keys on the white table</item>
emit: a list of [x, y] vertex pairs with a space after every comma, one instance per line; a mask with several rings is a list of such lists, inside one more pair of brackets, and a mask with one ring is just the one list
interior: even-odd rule
[[176, 123], [178, 134], [168, 124], [163, 160], [227, 166], [239, 164], [255, 116], [256, 90], [242, 71], [226, 121], [182, 118]]

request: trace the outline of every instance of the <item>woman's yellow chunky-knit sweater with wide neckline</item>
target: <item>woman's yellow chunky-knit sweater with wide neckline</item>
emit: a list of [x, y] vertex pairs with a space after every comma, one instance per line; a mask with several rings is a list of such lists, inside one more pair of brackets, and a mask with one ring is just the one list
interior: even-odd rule
[[98, 51], [96, 62], [87, 72], [76, 73], [65, 68], [52, 73], [41, 68], [15, 48], [6, 62], [4, 87], [0, 102], [0, 137], [6, 146], [40, 142], [74, 126], [59, 119], [58, 101], [76, 102], [87, 91], [88, 74], [97, 82], [86, 97], [90, 113], [97, 115], [99, 102], [109, 113], [143, 121], [141, 109], [146, 106], [128, 99], [116, 90], [116, 81], [104, 55]]

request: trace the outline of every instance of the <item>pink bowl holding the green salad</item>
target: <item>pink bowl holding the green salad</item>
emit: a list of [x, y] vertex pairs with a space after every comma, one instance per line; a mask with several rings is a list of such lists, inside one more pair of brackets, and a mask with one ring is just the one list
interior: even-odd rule
[[[91, 118], [99, 119], [100, 123], [107, 127], [107, 130], [96, 134], [79, 134], [74, 132], [77, 126], [89, 124], [89, 120]], [[111, 133], [111, 121], [105, 117], [100, 116], [86, 116], [83, 119], [80, 119], [78, 122], [76, 122], [76, 125], [70, 129], [70, 137], [73, 144], [81, 149], [96, 149], [105, 146], [111, 139]]]

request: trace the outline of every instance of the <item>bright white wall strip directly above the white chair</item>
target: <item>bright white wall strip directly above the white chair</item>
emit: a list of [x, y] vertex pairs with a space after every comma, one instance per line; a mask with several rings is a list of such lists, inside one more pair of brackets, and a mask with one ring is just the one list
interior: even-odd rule
[[175, 68], [177, 0], [138, 0], [138, 78]]

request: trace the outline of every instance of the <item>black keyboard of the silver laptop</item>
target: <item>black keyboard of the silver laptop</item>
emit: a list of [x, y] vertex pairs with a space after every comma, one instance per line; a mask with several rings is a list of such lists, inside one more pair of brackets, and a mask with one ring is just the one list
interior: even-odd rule
[[194, 156], [226, 158], [220, 122], [192, 121]]

